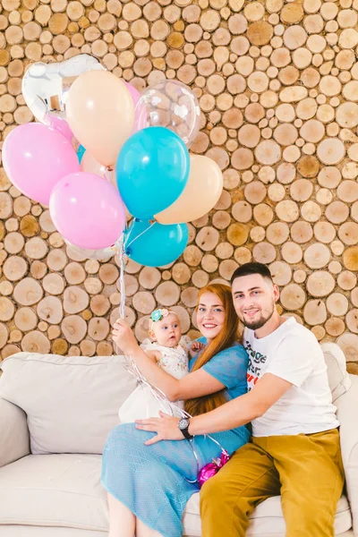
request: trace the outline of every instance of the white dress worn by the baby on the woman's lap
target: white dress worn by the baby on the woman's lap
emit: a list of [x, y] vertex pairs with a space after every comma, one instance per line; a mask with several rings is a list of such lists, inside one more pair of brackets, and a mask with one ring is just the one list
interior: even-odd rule
[[[183, 379], [189, 372], [188, 346], [191, 343], [190, 338], [187, 336], [183, 336], [175, 347], [158, 345], [158, 343], [145, 339], [141, 344], [141, 349], [144, 352], [159, 351], [161, 357], [158, 361], [158, 367], [161, 367], [162, 370], [175, 377], [175, 379]], [[121, 423], [146, 418], [158, 418], [159, 411], [181, 417], [179, 412], [175, 413], [175, 407], [183, 409], [183, 401], [176, 401], [174, 404], [172, 403], [171, 407], [163, 399], [154, 396], [149, 386], [139, 384], [124, 401], [118, 415]]]

